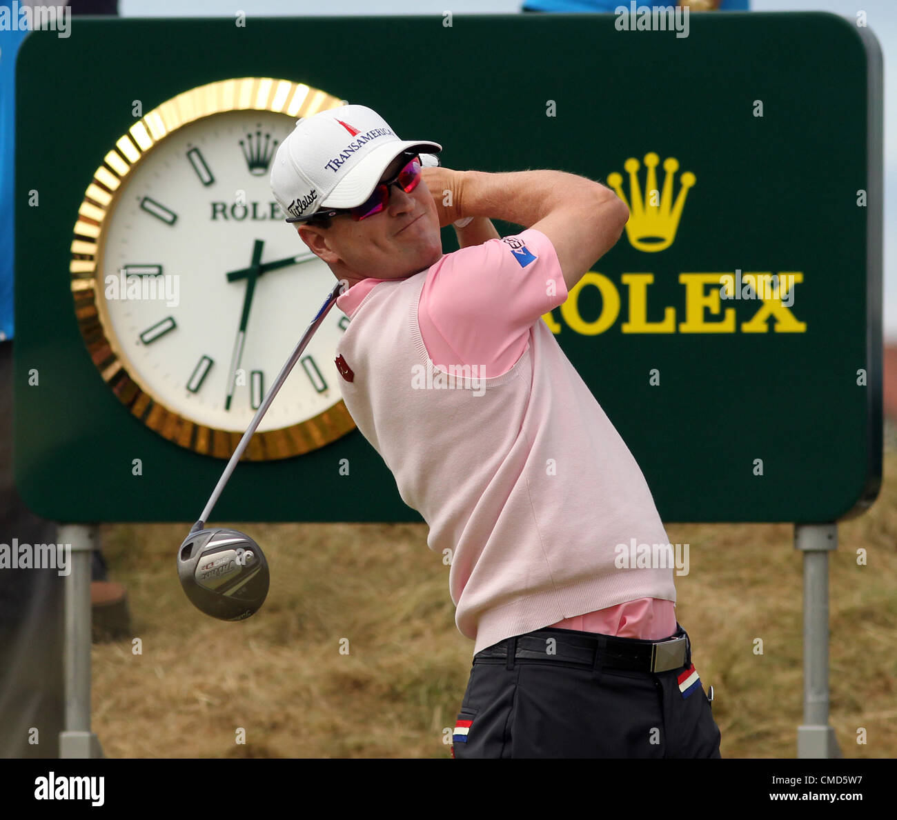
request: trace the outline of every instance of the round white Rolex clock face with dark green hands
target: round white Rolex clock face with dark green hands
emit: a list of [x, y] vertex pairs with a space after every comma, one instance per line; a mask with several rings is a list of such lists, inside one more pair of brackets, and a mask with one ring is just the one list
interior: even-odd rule
[[[127, 169], [100, 223], [96, 320], [136, 388], [116, 392], [145, 423], [164, 409], [151, 427], [199, 452], [230, 456], [336, 284], [269, 186], [295, 120], [226, 110], [170, 131]], [[334, 361], [347, 321], [332, 309], [312, 336], [258, 427], [263, 442], [283, 435], [257, 458], [306, 452], [353, 428]]]

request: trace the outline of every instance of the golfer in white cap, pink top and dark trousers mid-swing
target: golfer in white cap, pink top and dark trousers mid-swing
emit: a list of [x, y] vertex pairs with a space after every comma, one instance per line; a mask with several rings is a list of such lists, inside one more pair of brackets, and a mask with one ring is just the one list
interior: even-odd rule
[[345, 405], [451, 557], [475, 644], [452, 754], [718, 757], [674, 562], [620, 560], [668, 546], [648, 485], [541, 319], [629, 211], [562, 171], [422, 168], [439, 151], [347, 105], [297, 122], [271, 186], [345, 282]]

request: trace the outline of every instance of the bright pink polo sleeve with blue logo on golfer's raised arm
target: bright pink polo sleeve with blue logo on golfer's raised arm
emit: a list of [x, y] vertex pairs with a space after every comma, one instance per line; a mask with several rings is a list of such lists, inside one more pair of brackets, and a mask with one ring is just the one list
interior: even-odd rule
[[478, 365], [492, 377], [514, 366], [529, 328], [566, 299], [553, 245], [530, 228], [443, 256], [423, 285], [418, 324], [435, 364]]

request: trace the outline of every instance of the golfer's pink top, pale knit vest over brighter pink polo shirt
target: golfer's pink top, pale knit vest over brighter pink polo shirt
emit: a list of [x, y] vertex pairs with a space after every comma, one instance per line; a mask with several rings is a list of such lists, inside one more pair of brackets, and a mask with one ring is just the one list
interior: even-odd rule
[[474, 652], [543, 626], [675, 632], [672, 567], [614, 565], [618, 544], [668, 539], [638, 464], [539, 321], [566, 298], [553, 246], [528, 229], [336, 301], [351, 319], [336, 350], [345, 405], [428, 546], [450, 550]]

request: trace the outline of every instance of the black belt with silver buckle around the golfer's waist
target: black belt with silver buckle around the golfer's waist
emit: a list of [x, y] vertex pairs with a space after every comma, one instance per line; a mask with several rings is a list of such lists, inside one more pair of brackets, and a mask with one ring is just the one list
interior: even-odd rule
[[[553, 643], [548, 643], [553, 639]], [[631, 672], [666, 672], [680, 669], [691, 662], [688, 634], [679, 626], [676, 634], [663, 641], [640, 641], [635, 638], [614, 638], [611, 635], [579, 632], [546, 626], [527, 634], [505, 638], [474, 656], [508, 659], [512, 646], [515, 660], [562, 660], [594, 668], [623, 669]]]

